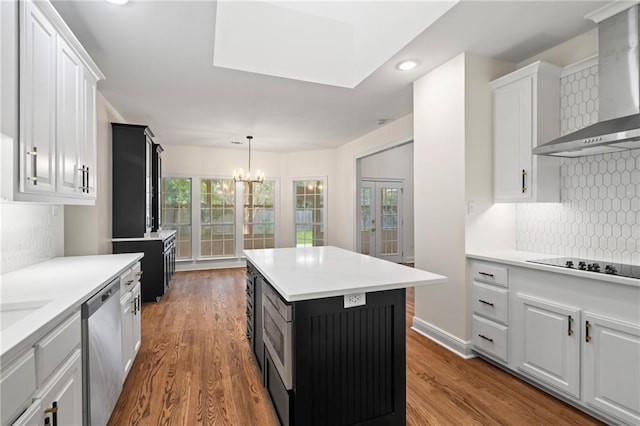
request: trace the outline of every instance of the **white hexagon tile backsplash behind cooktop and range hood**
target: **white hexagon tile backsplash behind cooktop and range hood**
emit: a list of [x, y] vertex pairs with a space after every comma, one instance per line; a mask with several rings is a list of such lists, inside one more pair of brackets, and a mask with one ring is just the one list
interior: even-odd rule
[[[561, 133], [597, 121], [597, 64], [562, 77]], [[519, 204], [516, 248], [640, 264], [640, 150], [564, 158], [561, 202]]]

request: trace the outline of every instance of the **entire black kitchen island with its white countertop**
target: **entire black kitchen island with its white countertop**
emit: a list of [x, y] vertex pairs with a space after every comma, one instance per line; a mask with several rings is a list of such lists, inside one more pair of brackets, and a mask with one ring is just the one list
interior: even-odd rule
[[336, 247], [245, 254], [262, 283], [254, 333], [280, 422], [406, 424], [405, 288], [446, 277]]

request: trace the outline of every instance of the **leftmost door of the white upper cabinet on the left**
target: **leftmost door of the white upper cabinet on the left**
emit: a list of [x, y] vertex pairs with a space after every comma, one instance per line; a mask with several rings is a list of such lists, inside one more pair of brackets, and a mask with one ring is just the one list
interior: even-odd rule
[[20, 2], [20, 191], [56, 186], [56, 31], [31, 1]]

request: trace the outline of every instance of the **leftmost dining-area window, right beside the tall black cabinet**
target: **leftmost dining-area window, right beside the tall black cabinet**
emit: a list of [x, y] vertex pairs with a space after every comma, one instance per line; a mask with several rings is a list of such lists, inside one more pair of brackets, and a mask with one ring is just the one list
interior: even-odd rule
[[191, 259], [191, 178], [162, 179], [162, 228], [176, 231], [176, 258]]

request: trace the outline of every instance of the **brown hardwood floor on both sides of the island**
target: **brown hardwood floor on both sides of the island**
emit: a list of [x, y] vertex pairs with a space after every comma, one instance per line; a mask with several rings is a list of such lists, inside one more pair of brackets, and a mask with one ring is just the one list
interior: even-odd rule
[[[142, 306], [142, 347], [109, 425], [277, 425], [245, 333], [244, 269], [176, 273]], [[413, 290], [407, 292], [407, 327]], [[407, 329], [408, 425], [595, 425], [481, 360]]]

